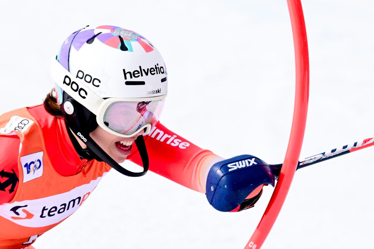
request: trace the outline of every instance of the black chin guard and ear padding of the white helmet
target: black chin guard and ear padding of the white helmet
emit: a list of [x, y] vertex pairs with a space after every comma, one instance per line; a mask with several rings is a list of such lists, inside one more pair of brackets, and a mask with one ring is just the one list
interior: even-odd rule
[[[73, 112], [71, 113], [71, 111], [69, 111], [69, 113], [71, 114], [66, 113], [65, 108], [64, 108], [65, 103], [68, 103], [68, 102], [70, 102], [73, 107]], [[96, 144], [95, 141], [93, 141], [93, 139], [89, 136], [89, 133], [84, 131], [84, 130], [90, 130], [89, 126], [91, 126], [91, 131], [92, 131], [92, 124], [86, 123], [88, 120], [80, 120], [82, 119], [83, 116], [85, 116], [85, 115], [82, 115], [83, 114], [82, 112], [85, 112], [83, 110], [83, 106], [79, 104], [77, 101], [75, 101], [73, 98], [71, 98], [71, 96], [69, 96], [65, 92], [64, 92], [64, 102], [61, 105], [61, 110], [62, 110], [62, 113], [64, 114], [65, 120], [68, 123], [70, 129], [73, 130], [74, 134], [76, 134], [77, 137], [87, 145], [87, 147], [92, 151], [92, 153], [94, 153], [94, 155], [91, 155], [91, 156], [94, 157], [97, 161], [107, 163], [113, 169], [117, 170], [118, 172], [126, 176], [138, 177], [138, 176], [143, 176], [145, 175], [145, 173], [147, 173], [148, 167], [149, 167], [149, 159], [148, 159], [147, 148], [145, 147], [143, 136], [138, 136], [138, 138], [135, 139], [135, 144], [137, 145], [137, 148], [138, 148], [138, 151], [139, 151], [142, 163], [143, 163], [144, 170], [142, 172], [132, 172], [120, 166], [116, 161], [114, 161], [107, 153], [105, 153], [104, 150], [102, 150], [101, 147], [99, 147], [98, 144]], [[86, 129], [82, 129], [82, 127], [85, 127]], [[80, 133], [80, 135], [78, 135], [78, 133]]]

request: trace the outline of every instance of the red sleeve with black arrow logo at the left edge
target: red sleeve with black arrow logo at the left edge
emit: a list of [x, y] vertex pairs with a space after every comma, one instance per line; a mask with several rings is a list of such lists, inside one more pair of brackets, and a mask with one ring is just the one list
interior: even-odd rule
[[8, 176], [13, 179], [11, 175], [15, 174], [19, 179], [19, 144], [18, 136], [0, 136], [0, 205], [10, 202], [18, 188], [18, 181], [14, 184]]

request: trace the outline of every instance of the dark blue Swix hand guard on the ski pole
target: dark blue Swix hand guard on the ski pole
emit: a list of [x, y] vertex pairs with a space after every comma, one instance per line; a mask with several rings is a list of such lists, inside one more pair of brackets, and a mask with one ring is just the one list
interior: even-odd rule
[[215, 163], [208, 173], [206, 198], [217, 210], [230, 212], [261, 184], [275, 185], [271, 167], [258, 157], [241, 155]]

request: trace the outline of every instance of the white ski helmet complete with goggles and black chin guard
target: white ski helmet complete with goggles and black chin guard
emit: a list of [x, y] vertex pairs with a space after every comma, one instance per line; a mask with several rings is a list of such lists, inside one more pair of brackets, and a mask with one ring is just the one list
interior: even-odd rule
[[89, 133], [97, 126], [125, 138], [150, 132], [168, 87], [165, 63], [153, 44], [120, 27], [86, 26], [65, 39], [52, 59], [51, 75], [66, 123], [89, 154], [125, 175], [144, 175], [148, 156], [142, 136], [135, 140], [144, 166], [138, 173], [118, 165]]

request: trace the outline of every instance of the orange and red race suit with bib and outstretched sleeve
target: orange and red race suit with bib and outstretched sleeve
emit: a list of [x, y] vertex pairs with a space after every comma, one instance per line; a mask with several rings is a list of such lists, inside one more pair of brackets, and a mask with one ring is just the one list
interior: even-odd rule
[[[209, 169], [223, 160], [160, 122], [144, 140], [149, 170], [201, 193]], [[127, 159], [141, 165], [133, 146]], [[64, 119], [50, 115], [43, 105], [1, 115], [0, 148], [0, 249], [30, 246], [75, 212], [111, 169], [80, 157]]]

